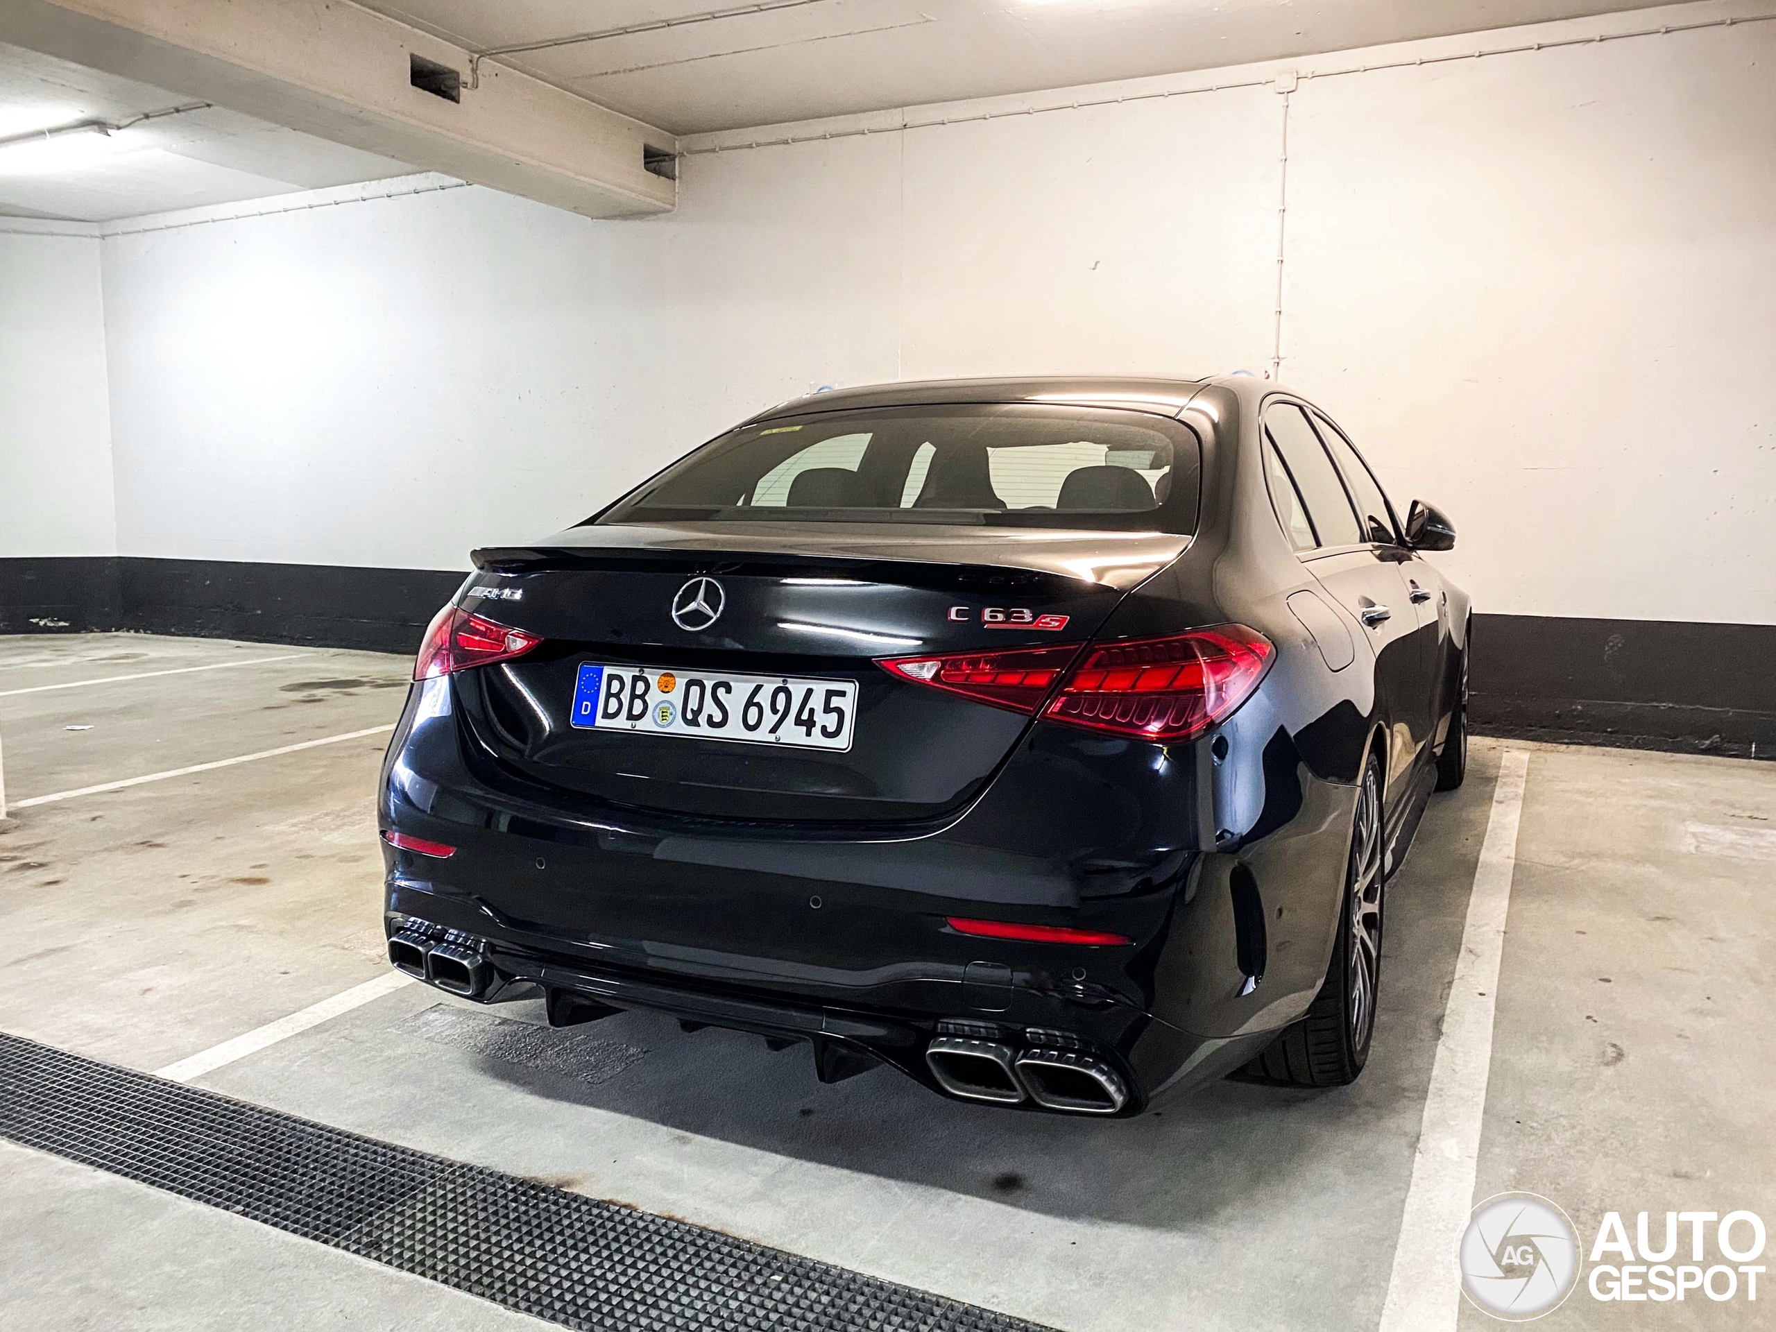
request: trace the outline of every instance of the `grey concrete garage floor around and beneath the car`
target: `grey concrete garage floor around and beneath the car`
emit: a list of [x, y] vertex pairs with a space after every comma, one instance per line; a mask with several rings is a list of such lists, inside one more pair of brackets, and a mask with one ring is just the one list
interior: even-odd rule
[[[389, 723], [405, 678], [375, 654], [0, 639], [7, 790]], [[155, 1069], [384, 975], [382, 748], [371, 735], [20, 812], [0, 833], [14, 950], [0, 1030]], [[1643, 1209], [1657, 1224], [1746, 1208], [1776, 1225], [1762, 1041], [1776, 767], [1522, 748], [1476, 1199], [1543, 1193], [1586, 1243], [1611, 1209], [1630, 1231]], [[1119, 1122], [1000, 1114], [886, 1069], [822, 1087], [805, 1048], [757, 1037], [648, 1014], [549, 1032], [540, 1003], [478, 1009], [423, 986], [201, 1083], [1076, 1332], [1375, 1327], [1499, 753], [1474, 746], [1391, 886], [1375, 1053], [1350, 1089], [1220, 1083]], [[529, 1321], [4, 1144], [0, 1272], [0, 1327]], [[1581, 1288], [1545, 1325], [1776, 1321], [1760, 1309]], [[1463, 1328], [1490, 1325], [1463, 1307]]]

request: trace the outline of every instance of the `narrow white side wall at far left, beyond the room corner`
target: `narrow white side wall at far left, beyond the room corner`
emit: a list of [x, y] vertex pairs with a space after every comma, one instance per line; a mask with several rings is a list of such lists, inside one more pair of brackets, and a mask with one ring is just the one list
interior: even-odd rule
[[99, 242], [0, 227], [0, 558], [115, 549]]

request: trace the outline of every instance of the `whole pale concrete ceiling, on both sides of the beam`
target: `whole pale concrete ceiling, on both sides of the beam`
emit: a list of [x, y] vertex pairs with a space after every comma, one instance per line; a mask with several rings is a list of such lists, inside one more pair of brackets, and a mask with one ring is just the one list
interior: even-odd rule
[[[1652, 4], [361, 0], [357, 12], [368, 9], [465, 52], [593, 34], [588, 41], [497, 55], [492, 67], [506, 64], [682, 135], [1288, 59]], [[0, 140], [87, 119], [126, 121], [194, 101], [201, 99], [190, 92], [0, 44]], [[410, 170], [373, 151], [220, 107], [197, 107], [110, 135], [0, 144], [0, 215], [105, 222]]]

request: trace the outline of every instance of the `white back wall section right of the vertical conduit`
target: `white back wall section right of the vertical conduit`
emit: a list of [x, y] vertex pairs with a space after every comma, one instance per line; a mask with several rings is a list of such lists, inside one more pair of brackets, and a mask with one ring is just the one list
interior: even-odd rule
[[1755, 23], [1296, 94], [1284, 375], [1483, 609], [1776, 622], [1772, 73]]

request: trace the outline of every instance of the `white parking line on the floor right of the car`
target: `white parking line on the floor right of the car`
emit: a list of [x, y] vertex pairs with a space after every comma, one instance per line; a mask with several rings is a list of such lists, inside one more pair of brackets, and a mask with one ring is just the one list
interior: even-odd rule
[[1380, 1332], [1455, 1332], [1462, 1311], [1456, 1243], [1474, 1206], [1492, 1069], [1492, 1018], [1527, 773], [1527, 749], [1506, 749], [1499, 758], [1499, 783], [1492, 790], [1487, 840], [1467, 899], [1462, 955], [1444, 1007]]

